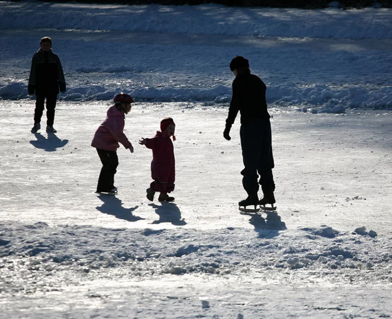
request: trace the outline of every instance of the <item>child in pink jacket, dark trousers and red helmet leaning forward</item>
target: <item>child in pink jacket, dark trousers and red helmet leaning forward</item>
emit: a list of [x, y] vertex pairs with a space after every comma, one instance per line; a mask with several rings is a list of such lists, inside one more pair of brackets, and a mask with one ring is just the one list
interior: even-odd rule
[[102, 162], [102, 169], [96, 193], [116, 194], [114, 186], [114, 174], [118, 166], [117, 149], [118, 142], [133, 153], [133, 146], [124, 134], [125, 114], [131, 111], [133, 101], [131, 95], [120, 93], [114, 97], [114, 105], [109, 108], [106, 119], [96, 130], [91, 146], [96, 151]]

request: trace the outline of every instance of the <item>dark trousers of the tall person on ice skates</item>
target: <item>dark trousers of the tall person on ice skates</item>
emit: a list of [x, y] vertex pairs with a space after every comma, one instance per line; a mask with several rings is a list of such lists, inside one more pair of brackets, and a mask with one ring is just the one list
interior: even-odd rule
[[[251, 197], [257, 195], [259, 184], [263, 192], [265, 190], [274, 191], [272, 169], [275, 165], [269, 118], [253, 119], [242, 123], [240, 138], [244, 165], [241, 171], [243, 188]], [[257, 173], [260, 175], [259, 182], [257, 182]]]

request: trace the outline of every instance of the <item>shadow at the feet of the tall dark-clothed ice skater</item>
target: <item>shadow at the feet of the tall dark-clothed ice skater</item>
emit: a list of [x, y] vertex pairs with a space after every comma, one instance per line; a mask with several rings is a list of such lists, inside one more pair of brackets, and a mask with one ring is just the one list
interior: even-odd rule
[[[261, 215], [264, 213], [267, 214], [265, 218]], [[258, 213], [242, 212], [242, 214], [251, 216], [249, 223], [254, 226], [259, 237], [272, 238], [278, 236], [280, 230], [287, 229], [277, 211], [261, 210]]]

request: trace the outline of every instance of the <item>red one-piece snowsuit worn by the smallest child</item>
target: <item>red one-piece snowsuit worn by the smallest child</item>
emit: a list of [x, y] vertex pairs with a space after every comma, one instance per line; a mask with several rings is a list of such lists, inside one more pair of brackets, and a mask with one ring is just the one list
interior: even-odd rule
[[173, 142], [159, 131], [154, 138], [146, 140], [146, 148], [153, 150], [151, 177], [160, 183], [167, 183], [167, 189], [173, 188], [176, 178]]

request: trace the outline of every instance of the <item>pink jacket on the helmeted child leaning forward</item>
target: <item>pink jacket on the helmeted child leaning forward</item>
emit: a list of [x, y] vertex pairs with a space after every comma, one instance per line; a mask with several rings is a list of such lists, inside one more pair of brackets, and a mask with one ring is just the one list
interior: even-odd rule
[[132, 145], [122, 132], [125, 126], [125, 114], [113, 105], [107, 112], [107, 118], [96, 130], [91, 146], [106, 151], [117, 151], [120, 142], [126, 149]]

